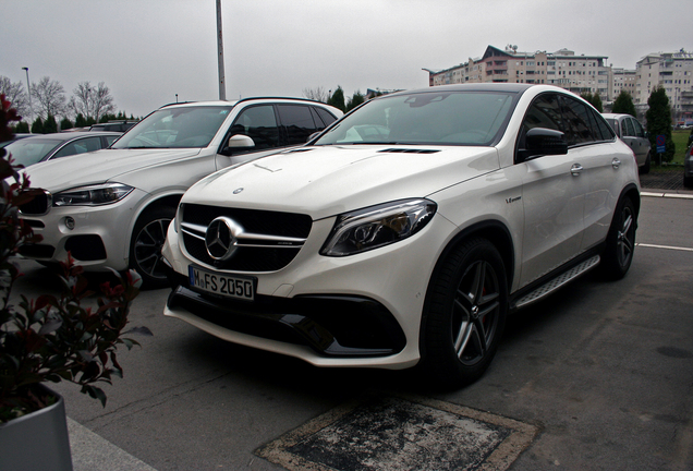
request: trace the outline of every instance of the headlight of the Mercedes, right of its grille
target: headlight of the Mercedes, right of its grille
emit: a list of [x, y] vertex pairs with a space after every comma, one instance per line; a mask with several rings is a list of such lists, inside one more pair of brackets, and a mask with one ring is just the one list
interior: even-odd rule
[[435, 213], [428, 200], [401, 200], [343, 214], [320, 254], [346, 256], [401, 241], [422, 230]]

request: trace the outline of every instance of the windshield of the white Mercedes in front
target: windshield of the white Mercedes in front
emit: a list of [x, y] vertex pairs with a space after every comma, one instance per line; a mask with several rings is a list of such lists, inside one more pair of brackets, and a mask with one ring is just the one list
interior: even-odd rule
[[426, 92], [375, 99], [332, 128], [315, 145], [490, 145], [502, 134], [513, 94]]

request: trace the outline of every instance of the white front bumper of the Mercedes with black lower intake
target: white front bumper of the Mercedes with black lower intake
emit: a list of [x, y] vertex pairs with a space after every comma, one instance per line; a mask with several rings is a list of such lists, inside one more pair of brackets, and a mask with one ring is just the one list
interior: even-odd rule
[[420, 233], [385, 247], [346, 257], [318, 255], [332, 225], [333, 219], [315, 221], [285, 268], [252, 274], [258, 280], [253, 302], [190, 289], [187, 266], [200, 264], [179, 245], [170, 225], [162, 254], [173, 291], [165, 314], [224, 340], [317, 366], [413, 366], [421, 358], [428, 280], [452, 225], [434, 218]]

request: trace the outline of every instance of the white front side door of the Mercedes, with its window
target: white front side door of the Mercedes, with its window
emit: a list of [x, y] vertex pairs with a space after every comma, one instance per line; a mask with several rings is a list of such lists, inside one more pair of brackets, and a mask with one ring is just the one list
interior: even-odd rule
[[[559, 94], [547, 93], [535, 98], [523, 120], [520, 148], [524, 133], [533, 128], [567, 131]], [[525, 167], [520, 287], [580, 253], [585, 204], [581, 157], [582, 153], [569, 147], [567, 155], [539, 156], [520, 164]]]

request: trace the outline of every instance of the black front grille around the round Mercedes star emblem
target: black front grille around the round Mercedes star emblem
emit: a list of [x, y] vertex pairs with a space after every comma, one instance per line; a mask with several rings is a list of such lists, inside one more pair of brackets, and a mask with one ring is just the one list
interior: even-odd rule
[[[183, 231], [183, 245], [191, 257], [206, 265], [239, 271], [276, 271], [289, 265], [301, 250], [302, 243], [283, 245], [267, 239], [246, 239], [239, 244], [233, 256], [227, 261], [216, 261], [207, 252], [204, 230], [220, 216], [233, 219], [244, 232], [263, 238], [305, 239], [311, 232], [313, 220], [307, 215], [268, 210], [238, 209], [218, 206], [184, 204], [183, 226], [198, 227], [200, 231]], [[195, 232], [195, 233], [193, 233]]]

